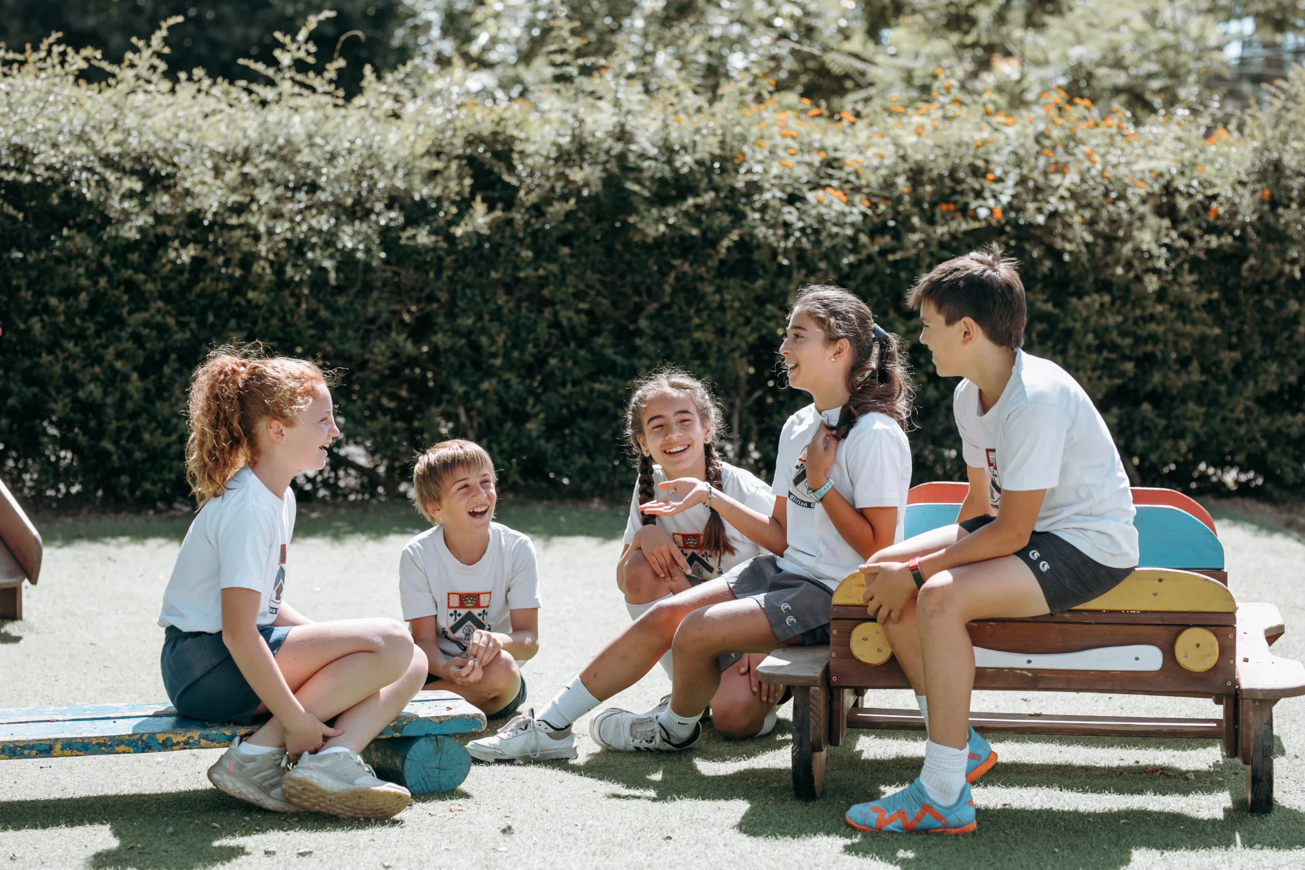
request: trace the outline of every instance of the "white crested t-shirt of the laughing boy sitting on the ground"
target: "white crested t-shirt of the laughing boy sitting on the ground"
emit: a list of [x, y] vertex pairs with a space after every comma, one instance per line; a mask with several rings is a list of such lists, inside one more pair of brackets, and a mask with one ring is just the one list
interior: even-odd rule
[[489, 547], [475, 565], [449, 552], [444, 527], [407, 543], [399, 557], [399, 604], [405, 620], [433, 616], [440, 651], [459, 659], [476, 629], [508, 634], [509, 610], [539, 607], [535, 547], [526, 535], [489, 523]]

